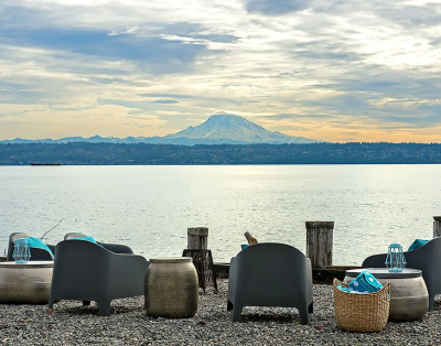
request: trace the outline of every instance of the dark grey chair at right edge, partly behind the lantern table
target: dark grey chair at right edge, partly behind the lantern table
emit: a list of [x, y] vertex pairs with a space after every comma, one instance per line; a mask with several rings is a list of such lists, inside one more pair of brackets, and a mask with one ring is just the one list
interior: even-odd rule
[[[429, 311], [433, 311], [434, 296], [441, 294], [441, 238], [433, 238], [422, 247], [404, 252], [406, 267], [419, 269], [429, 292]], [[369, 256], [363, 268], [385, 268], [387, 253]]]

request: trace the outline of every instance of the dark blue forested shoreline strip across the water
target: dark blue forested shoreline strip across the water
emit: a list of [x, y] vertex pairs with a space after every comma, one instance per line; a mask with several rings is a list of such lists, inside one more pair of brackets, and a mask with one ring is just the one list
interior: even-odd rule
[[187, 164], [433, 164], [441, 143], [122, 144], [71, 142], [0, 144], [0, 165]]

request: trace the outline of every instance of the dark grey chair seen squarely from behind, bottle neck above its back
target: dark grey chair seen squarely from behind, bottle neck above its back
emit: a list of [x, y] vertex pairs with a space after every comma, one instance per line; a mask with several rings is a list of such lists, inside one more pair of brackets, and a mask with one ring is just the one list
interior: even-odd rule
[[239, 321], [245, 306], [299, 310], [302, 324], [313, 312], [311, 261], [284, 244], [260, 242], [232, 258], [227, 310]]

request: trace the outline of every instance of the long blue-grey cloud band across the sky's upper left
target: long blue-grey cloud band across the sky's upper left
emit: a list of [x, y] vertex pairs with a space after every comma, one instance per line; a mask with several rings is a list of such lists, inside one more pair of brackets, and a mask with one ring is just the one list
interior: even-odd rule
[[[3, 29], [3, 35], [14, 44], [51, 51], [69, 52], [92, 57], [130, 61], [147, 71], [159, 73], [184, 72], [191, 67], [203, 45], [138, 35], [109, 35], [104, 31], [37, 29], [17, 32]], [[0, 39], [1, 40], [1, 39]], [[0, 41], [1, 42], [1, 41]]]

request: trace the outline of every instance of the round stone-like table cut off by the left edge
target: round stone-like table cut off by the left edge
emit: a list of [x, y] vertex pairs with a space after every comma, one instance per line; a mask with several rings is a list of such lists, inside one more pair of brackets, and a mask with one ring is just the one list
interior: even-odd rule
[[53, 261], [0, 262], [0, 303], [47, 304]]

